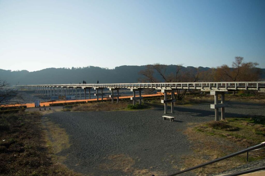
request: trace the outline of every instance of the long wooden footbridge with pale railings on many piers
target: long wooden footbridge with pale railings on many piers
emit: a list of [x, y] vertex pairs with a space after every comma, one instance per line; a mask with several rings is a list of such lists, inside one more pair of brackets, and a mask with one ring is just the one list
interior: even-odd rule
[[[164, 100], [161, 100], [161, 103], [165, 105], [165, 114], [167, 113], [167, 103], [171, 103], [171, 112], [174, 111], [174, 92], [177, 89], [198, 89], [200, 91], [210, 91], [211, 95], [214, 95], [214, 104], [210, 108], [215, 109], [215, 120], [218, 120], [218, 109], [221, 108], [221, 119], [224, 119], [224, 107], [227, 104], [224, 103], [224, 94], [228, 91], [237, 91], [237, 90], [256, 90], [265, 92], [265, 82], [191, 82], [191, 83], [118, 83], [118, 84], [44, 84], [44, 85], [17, 85], [19, 89], [35, 91], [38, 94], [47, 95], [47, 96], [64, 96], [70, 95], [70, 89], [75, 89], [77, 97], [77, 89], [80, 91], [81, 99], [81, 89], [84, 89], [85, 99], [87, 99], [87, 90], [89, 99], [91, 98], [90, 89], [96, 90], [94, 94], [99, 100], [103, 99], [104, 93], [103, 89], [108, 88], [111, 91], [109, 97], [112, 98], [114, 102], [114, 97], [117, 98], [117, 103], [119, 101], [119, 89], [127, 88], [133, 92], [133, 105], [135, 105], [136, 100], [141, 100], [141, 91], [143, 89], [157, 89], [164, 93]], [[101, 91], [100, 93], [98, 91]], [[113, 91], [117, 91], [114, 94]], [[136, 93], [139, 92], [139, 96], [136, 97]], [[167, 95], [170, 93], [171, 99], [167, 99]], [[218, 95], [221, 95], [221, 103], [218, 103]]]

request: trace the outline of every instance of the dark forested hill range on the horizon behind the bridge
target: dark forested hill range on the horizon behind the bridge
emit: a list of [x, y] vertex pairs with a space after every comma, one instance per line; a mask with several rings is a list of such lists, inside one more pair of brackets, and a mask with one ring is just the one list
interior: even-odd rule
[[[169, 65], [167, 72], [174, 72], [176, 65]], [[201, 71], [210, 69], [209, 67], [198, 67]], [[100, 67], [88, 66], [83, 68], [47, 68], [39, 71], [29, 72], [27, 70], [11, 71], [0, 69], [0, 79], [6, 80], [12, 85], [19, 83], [25, 84], [72, 84], [86, 81], [87, 84], [96, 83], [136, 83], [140, 78], [140, 70], [145, 66], [119, 66], [115, 69], [105, 69]], [[195, 67], [184, 67], [183, 70], [195, 70]], [[262, 79], [265, 79], [265, 69]]]

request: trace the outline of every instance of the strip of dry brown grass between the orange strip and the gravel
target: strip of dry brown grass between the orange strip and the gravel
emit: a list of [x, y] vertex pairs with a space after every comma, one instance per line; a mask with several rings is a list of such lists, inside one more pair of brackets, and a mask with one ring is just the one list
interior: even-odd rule
[[73, 107], [72, 111], [115, 111], [125, 110], [128, 102], [120, 101], [119, 103], [99, 102], [99, 103], [86, 103]]

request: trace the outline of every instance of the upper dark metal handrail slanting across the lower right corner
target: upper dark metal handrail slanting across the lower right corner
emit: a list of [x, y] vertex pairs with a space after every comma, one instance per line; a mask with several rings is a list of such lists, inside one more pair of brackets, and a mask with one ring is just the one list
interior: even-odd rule
[[181, 170], [181, 171], [176, 172], [176, 173], [174, 173], [174, 174], [169, 174], [169, 175], [167, 175], [167, 176], [178, 175], [178, 174], [181, 174], [181, 173], [184, 173], [184, 172], [187, 172], [187, 171], [193, 170], [193, 169], [200, 168], [200, 167], [202, 167], [202, 166], [206, 166], [206, 165], [209, 165], [209, 164], [212, 164], [212, 163], [216, 163], [216, 162], [218, 162], [218, 161], [221, 161], [221, 160], [224, 160], [224, 159], [227, 159], [227, 158], [230, 158], [230, 157], [233, 157], [233, 156], [236, 156], [236, 155], [240, 155], [240, 154], [242, 154], [242, 153], [245, 153], [245, 152], [248, 152], [248, 151], [254, 150], [254, 149], [259, 148], [259, 147], [261, 147], [261, 146], [265, 146], [265, 142], [262, 142], [262, 143], [260, 143], [260, 144], [258, 144], [258, 145], [255, 145], [255, 146], [252, 146], [252, 147], [246, 148], [246, 149], [244, 149], [244, 150], [241, 150], [241, 151], [235, 152], [235, 153], [233, 153], [233, 154], [229, 154], [229, 155], [223, 156], [223, 157], [221, 157], [221, 158], [217, 158], [217, 159], [215, 159], [215, 160], [208, 161], [208, 162], [206, 162], [206, 163], [202, 163], [202, 164], [199, 164], [199, 165], [197, 165], [197, 166], [193, 166], [193, 167], [191, 167], [191, 168]]

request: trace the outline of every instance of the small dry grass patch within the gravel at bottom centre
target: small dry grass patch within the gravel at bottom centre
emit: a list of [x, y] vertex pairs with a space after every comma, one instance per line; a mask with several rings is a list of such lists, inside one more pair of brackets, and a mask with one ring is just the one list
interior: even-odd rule
[[109, 162], [101, 164], [101, 169], [118, 170], [123, 172], [124, 175], [162, 175], [162, 173], [158, 171], [134, 168], [133, 165], [135, 164], [135, 161], [131, 157], [124, 154], [110, 155], [107, 159]]

